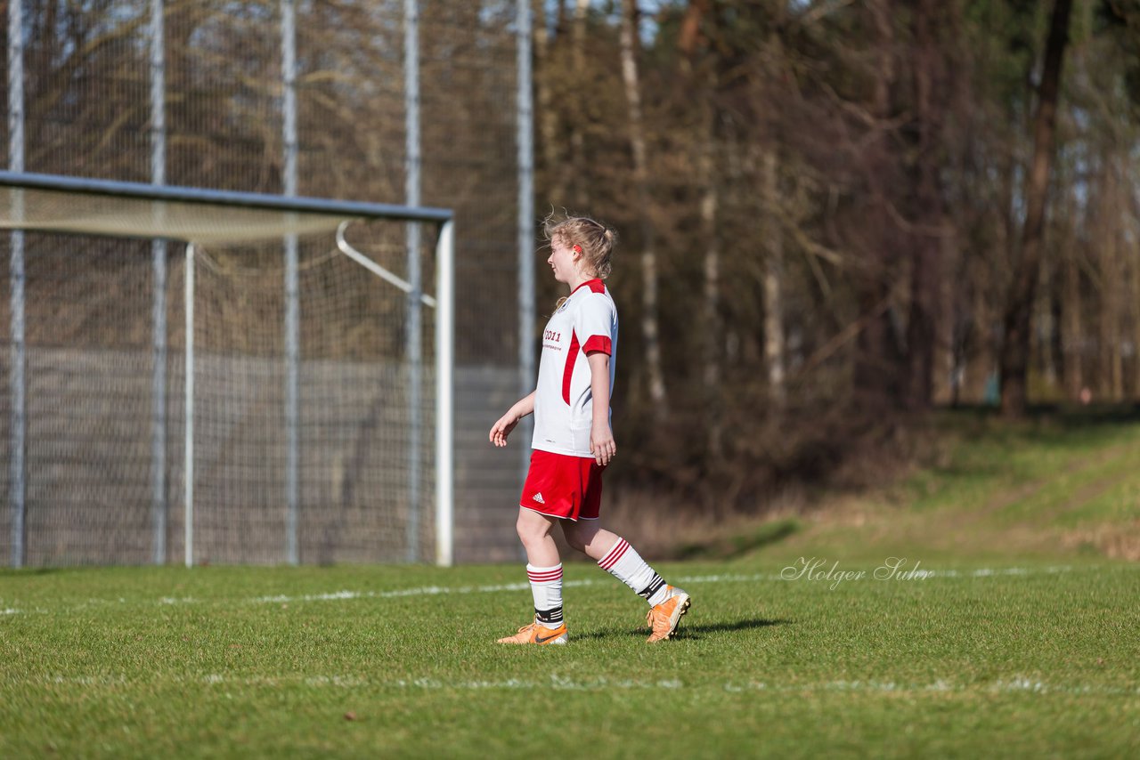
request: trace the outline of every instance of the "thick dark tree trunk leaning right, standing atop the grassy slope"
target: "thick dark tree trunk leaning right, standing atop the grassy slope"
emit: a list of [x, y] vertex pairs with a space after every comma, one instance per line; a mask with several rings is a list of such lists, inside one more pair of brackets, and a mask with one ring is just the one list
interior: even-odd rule
[[1036, 300], [1037, 270], [1041, 268], [1049, 169], [1052, 163], [1053, 136], [1057, 126], [1057, 100], [1072, 7], [1073, 0], [1053, 2], [1037, 111], [1033, 120], [1033, 163], [1025, 182], [1026, 213], [1021, 256], [1013, 269], [1012, 291], [1005, 303], [1005, 336], [1001, 357], [1001, 408], [1002, 415], [1011, 418], [1024, 417], [1027, 403], [1029, 329], [1033, 304]]

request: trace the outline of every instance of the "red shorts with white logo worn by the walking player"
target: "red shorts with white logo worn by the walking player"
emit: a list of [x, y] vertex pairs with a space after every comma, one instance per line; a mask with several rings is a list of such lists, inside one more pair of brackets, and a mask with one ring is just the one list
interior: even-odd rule
[[519, 506], [549, 517], [597, 520], [603, 469], [593, 457], [535, 449]]

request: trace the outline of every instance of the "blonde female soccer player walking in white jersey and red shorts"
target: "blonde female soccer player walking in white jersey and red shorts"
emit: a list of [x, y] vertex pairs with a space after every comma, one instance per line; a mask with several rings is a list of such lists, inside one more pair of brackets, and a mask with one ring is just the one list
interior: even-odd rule
[[527, 549], [527, 575], [535, 596], [535, 622], [499, 644], [565, 644], [562, 618], [562, 562], [551, 537], [561, 524], [567, 542], [585, 553], [649, 602], [648, 641], [673, 636], [690, 598], [667, 585], [619, 536], [598, 525], [602, 472], [617, 444], [610, 428], [618, 310], [602, 283], [610, 273], [616, 235], [585, 216], [547, 220], [554, 279], [570, 288], [543, 332], [543, 357], [535, 392], [520, 399], [491, 427], [490, 441], [507, 435], [535, 414], [530, 471], [516, 524]]

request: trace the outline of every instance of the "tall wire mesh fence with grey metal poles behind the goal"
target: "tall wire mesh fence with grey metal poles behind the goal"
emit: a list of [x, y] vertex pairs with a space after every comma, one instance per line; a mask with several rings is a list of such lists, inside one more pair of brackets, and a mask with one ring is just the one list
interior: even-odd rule
[[[11, 0], [7, 10], [0, 85], [8, 119], [0, 130], [8, 170], [455, 210], [456, 280], [462, 284], [456, 293], [456, 558], [513, 557], [520, 457], [496, 452], [483, 441], [489, 424], [518, 398], [520, 378], [532, 376], [527, 0]], [[423, 276], [417, 269], [431, 263], [407, 252], [425, 247], [423, 234], [415, 224], [401, 226], [401, 245], [377, 246], [376, 255], [394, 256], [392, 265], [402, 265], [416, 281]], [[8, 508], [0, 528], [8, 536], [22, 531], [27, 551], [16, 557], [15, 542], [2, 541], [0, 561], [158, 558], [156, 515], [165, 508], [161, 505], [180, 475], [179, 465], [168, 453], [160, 467], [164, 482], [140, 475], [153, 469], [140, 460], [155, 455], [137, 439], [155, 416], [177, 418], [179, 389], [156, 387], [146, 365], [176, 361], [166, 357], [165, 341], [177, 342], [177, 330], [155, 325], [176, 313], [174, 299], [168, 302], [165, 294], [177, 293], [179, 283], [166, 262], [178, 252], [163, 240], [23, 232], [6, 238], [0, 457], [7, 466], [0, 492]], [[244, 395], [235, 395], [225, 414], [246, 415], [246, 423], [244, 432], [220, 433], [219, 440], [244, 453], [220, 464], [210, 481], [220, 512], [218, 548], [206, 558], [401, 561], [426, 554], [407, 550], [416, 542], [405, 537], [426, 534], [430, 526], [375, 518], [375, 495], [388, 485], [374, 475], [392, 453], [360, 433], [360, 417], [367, 422], [370, 415], [375, 424], [393, 414], [389, 404], [430, 406], [430, 399], [417, 398], [430, 378], [409, 377], [409, 368], [422, 362], [422, 346], [408, 336], [425, 326], [417, 311], [392, 307], [402, 294], [381, 294], [363, 281], [321, 273], [321, 245], [286, 238], [270, 254], [217, 254], [238, 262], [246, 278], [235, 279], [225, 267], [214, 272], [229, 277], [217, 284], [217, 293], [227, 294], [219, 295], [221, 305], [259, 289], [300, 289], [302, 299], [298, 312], [284, 296], [267, 296], [264, 302], [275, 305], [266, 310], [264, 324], [252, 320], [260, 336], [251, 338], [254, 349], [219, 354], [245, 367], [245, 379], [227, 385], [247, 386]], [[303, 294], [329, 296], [337, 288], [348, 295], [321, 301], [336, 307], [321, 314], [323, 327], [306, 327], [318, 308], [307, 305]], [[22, 313], [11, 307], [17, 300]], [[222, 335], [234, 328], [225, 319], [219, 324]], [[336, 356], [329, 356], [329, 332], [341, 336]], [[153, 337], [160, 333], [169, 336]], [[26, 360], [14, 361], [19, 353]], [[301, 375], [290, 376], [293, 354], [300, 357]], [[356, 431], [343, 450], [310, 435], [314, 428], [336, 430], [317, 419], [319, 395], [302, 399], [300, 419], [292, 420], [303, 431], [299, 435], [309, 436], [299, 447], [283, 446], [275, 432], [286, 431], [288, 438], [290, 420], [279, 423], [270, 411], [249, 416], [267, 394], [304, 395], [312, 383], [327, 382], [331, 367], [344, 387], [399, 389], [391, 398], [345, 391], [360, 398], [352, 395], [356, 401], [342, 409], [349, 418], [340, 430]], [[234, 379], [231, 369], [219, 366], [218, 371]], [[290, 408], [285, 401], [278, 408]], [[390, 441], [430, 451], [430, 442], [415, 435]], [[251, 491], [249, 483], [255, 481], [233, 473], [254, 466], [275, 473], [272, 493], [253, 493], [258, 489]], [[23, 493], [16, 493], [19, 476]], [[424, 482], [417, 472], [391, 477]], [[329, 498], [334, 491], [352, 491], [352, 497]], [[287, 504], [288, 493], [300, 495], [300, 504]], [[427, 492], [413, 493], [413, 500], [431, 499]], [[284, 534], [278, 522], [298, 513], [307, 521], [308, 542], [290, 547], [270, 538]], [[178, 528], [172, 520], [162, 530], [173, 537]], [[389, 540], [390, 533], [400, 540]], [[172, 542], [162, 559], [180, 559], [177, 548]]]

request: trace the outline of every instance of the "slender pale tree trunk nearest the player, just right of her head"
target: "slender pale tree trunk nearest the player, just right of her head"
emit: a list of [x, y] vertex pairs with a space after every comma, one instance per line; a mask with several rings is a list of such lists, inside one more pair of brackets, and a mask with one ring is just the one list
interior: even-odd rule
[[622, 0], [621, 5], [621, 76], [625, 82], [626, 105], [629, 108], [629, 146], [634, 156], [634, 183], [637, 187], [638, 211], [642, 219], [642, 341], [645, 349], [649, 395], [654, 414], [660, 419], [667, 415], [668, 409], [665, 375], [661, 370], [658, 322], [656, 230], [650, 209], [649, 158], [637, 68], [638, 11], [636, 0]]

